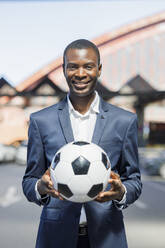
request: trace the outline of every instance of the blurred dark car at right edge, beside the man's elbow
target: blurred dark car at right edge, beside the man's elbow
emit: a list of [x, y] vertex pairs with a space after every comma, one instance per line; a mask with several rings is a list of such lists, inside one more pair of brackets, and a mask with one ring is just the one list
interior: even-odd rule
[[139, 163], [149, 175], [165, 178], [165, 149], [139, 148]]

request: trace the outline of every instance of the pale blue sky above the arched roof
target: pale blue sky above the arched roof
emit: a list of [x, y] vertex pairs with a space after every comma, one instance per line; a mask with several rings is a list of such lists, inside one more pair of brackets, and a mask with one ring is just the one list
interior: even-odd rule
[[165, 1], [0, 1], [0, 77], [16, 85], [72, 40], [94, 39], [161, 11]]

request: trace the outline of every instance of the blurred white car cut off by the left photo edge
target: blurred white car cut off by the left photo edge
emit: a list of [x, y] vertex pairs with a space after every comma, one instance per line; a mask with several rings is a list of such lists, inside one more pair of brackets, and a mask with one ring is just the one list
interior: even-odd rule
[[13, 162], [15, 160], [16, 148], [0, 144], [0, 163]]

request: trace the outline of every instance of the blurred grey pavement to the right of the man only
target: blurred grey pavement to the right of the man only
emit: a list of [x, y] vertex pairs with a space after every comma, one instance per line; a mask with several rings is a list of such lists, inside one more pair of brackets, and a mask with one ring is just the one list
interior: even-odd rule
[[124, 210], [130, 248], [165, 248], [165, 180], [142, 177], [140, 198]]

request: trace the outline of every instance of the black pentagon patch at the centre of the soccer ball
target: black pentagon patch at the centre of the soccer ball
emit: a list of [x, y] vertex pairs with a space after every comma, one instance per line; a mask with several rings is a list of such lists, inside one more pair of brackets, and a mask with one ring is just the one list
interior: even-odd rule
[[72, 168], [75, 175], [86, 175], [88, 173], [90, 162], [83, 156], [79, 156], [72, 162]]

